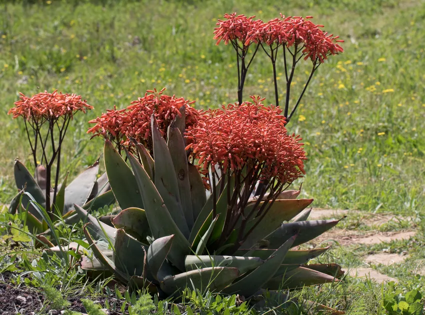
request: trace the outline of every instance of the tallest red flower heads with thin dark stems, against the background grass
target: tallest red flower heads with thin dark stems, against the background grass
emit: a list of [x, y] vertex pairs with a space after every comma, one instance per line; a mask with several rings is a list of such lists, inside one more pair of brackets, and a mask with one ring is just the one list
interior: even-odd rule
[[[236, 15], [236, 13], [224, 14], [224, 18], [226, 18], [226, 20], [218, 20], [217, 22], [218, 27], [214, 30], [214, 39], [217, 39], [217, 44], [220, 40], [224, 40], [225, 44], [230, 41], [236, 50], [239, 79], [237, 93], [239, 103], [242, 102], [243, 83], [247, 67], [244, 68], [242, 63], [242, 69], [239, 70], [239, 59], [243, 61], [245, 54], [238, 52], [238, 49], [240, 48], [238, 42], [243, 40], [244, 45], [242, 45], [242, 48], [249, 46], [251, 43], [255, 43], [257, 45], [255, 52], [257, 48], [261, 46], [262, 50], [270, 58], [273, 68], [276, 106], [279, 106], [276, 60], [279, 48], [282, 47], [286, 78], [286, 95], [283, 115], [286, 117], [286, 123], [289, 122], [298, 107], [301, 98], [318, 66], [323, 63], [329, 55], [343, 52], [342, 47], [338, 44], [338, 42], [343, 42], [343, 40], [338, 39], [338, 36], [333, 36], [333, 34], [323, 32], [321, 28], [324, 26], [314, 24], [310, 20], [312, 16], [306, 16], [303, 18], [300, 16], [285, 17], [284, 15], [280, 15], [280, 18], [275, 18], [268, 22], [263, 22], [261, 20], [253, 21], [252, 17], [246, 18], [244, 15]], [[252, 62], [255, 52], [252, 55], [248, 66]], [[293, 81], [296, 64], [301, 59], [310, 59], [312, 62], [312, 68], [297, 101], [289, 113], [291, 83]], [[239, 74], [240, 71], [244, 74], [243, 76]], [[240, 77], [243, 79], [241, 80]]]

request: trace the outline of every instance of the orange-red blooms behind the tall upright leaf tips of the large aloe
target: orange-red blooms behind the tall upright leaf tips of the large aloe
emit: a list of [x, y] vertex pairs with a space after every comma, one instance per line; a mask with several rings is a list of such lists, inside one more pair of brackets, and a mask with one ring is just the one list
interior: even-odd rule
[[122, 145], [129, 145], [130, 138], [143, 143], [151, 148], [150, 116], [155, 115], [159, 125], [159, 131], [166, 138], [166, 132], [171, 121], [181, 115], [179, 109], [185, 107], [186, 126], [197, 121], [198, 112], [190, 106], [194, 101], [174, 95], [164, 95], [161, 89], [147, 90], [143, 97], [134, 100], [124, 109], [108, 109], [100, 117], [90, 120], [95, 125], [88, 129], [87, 133], [101, 135], [110, 140], [119, 140]]

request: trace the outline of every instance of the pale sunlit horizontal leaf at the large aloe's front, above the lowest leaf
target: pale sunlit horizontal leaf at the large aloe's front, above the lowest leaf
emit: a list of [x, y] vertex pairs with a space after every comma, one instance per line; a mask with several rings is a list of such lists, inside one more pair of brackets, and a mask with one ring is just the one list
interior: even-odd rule
[[209, 255], [187, 255], [184, 259], [186, 270], [194, 270], [206, 267], [234, 267], [243, 274], [263, 264], [264, 260], [258, 257], [240, 256], [209, 256]]

